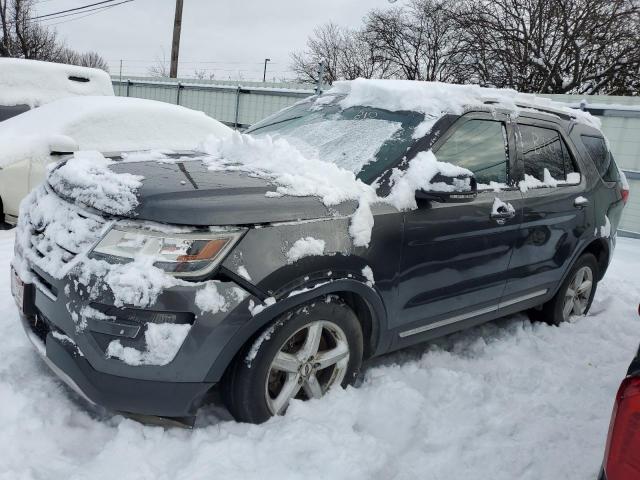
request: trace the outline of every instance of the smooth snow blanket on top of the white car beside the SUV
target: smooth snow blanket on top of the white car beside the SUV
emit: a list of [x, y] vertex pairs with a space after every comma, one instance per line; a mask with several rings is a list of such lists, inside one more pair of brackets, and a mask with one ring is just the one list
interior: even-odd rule
[[217, 120], [178, 105], [140, 98], [73, 97], [5, 120], [0, 128], [0, 166], [43, 158], [66, 139], [78, 150], [121, 152], [191, 150], [207, 136], [227, 136]]

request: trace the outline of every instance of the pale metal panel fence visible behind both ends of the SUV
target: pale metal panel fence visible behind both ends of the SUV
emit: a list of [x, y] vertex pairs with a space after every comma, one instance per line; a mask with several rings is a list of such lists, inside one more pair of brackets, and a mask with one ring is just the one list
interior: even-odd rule
[[[242, 129], [315, 93], [311, 85], [298, 83], [233, 82], [194, 79], [130, 77], [113, 79], [116, 95], [149, 98], [201, 110], [207, 115]], [[546, 95], [580, 106], [577, 95]], [[631, 186], [631, 199], [620, 229], [640, 238], [640, 97], [588, 97], [582, 107], [602, 120], [618, 165]], [[637, 192], [637, 193], [636, 193]]]

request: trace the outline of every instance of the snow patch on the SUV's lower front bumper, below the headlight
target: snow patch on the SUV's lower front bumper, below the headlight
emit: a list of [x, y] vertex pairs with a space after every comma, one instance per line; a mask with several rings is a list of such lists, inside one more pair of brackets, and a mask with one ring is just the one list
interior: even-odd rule
[[125, 347], [120, 340], [112, 340], [107, 347], [107, 357], [119, 358], [127, 365], [167, 365], [180, 350], [191, 330], [189, 324], [147, 323], [144, 339], [145, 351]]

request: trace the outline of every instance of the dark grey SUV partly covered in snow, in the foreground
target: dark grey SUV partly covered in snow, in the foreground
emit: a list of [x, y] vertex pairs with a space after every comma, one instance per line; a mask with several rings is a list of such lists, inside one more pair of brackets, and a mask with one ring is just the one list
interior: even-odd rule
[[585, 314], [628, 187], [597, 120], [513, 91], [336, 85], [202, 152], [77, 152], [22, 206], [27, 334], [92, 402], [238, 420], [363, 360], [529, 310]]

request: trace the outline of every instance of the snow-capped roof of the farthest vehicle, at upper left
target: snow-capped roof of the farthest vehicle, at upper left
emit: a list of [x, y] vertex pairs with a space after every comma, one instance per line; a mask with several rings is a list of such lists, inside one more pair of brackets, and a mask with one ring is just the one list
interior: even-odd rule
[[113, 96], [109, 74], [97, 68], [0, 58], [0, 105], [38, 107], [86, 95]]

